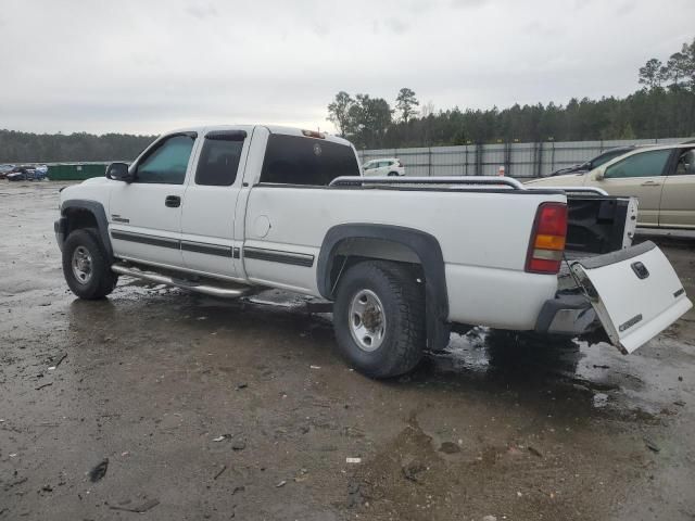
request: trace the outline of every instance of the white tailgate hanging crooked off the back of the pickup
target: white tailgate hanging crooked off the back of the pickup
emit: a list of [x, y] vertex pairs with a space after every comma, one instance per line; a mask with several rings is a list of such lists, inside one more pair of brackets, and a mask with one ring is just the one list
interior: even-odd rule
[[576, 260], [571, 270], [610, 341], [626, 354], [693, 306], [666, 255], [650, 241]]

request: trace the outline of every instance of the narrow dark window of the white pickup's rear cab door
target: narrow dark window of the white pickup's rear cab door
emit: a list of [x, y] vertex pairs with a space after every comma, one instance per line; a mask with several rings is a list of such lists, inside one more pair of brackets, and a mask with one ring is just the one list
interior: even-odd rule
[[198, 160], [195, 185], [229, 187], [237, 179], [245, 132], [211, 132]]

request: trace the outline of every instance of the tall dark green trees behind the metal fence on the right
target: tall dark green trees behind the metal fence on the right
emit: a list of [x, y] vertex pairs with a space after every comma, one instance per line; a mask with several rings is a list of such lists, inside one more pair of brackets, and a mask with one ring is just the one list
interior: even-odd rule
[[582, 141], [695, 135], [695, 39], [666, 63], [650, 59], [626, 98], [571, 99], [566, 105], [515, 104], [500, 110], [434, 111], [403, 88], [391, 107], [383, 98], [341, 91], [328, 119], [359, 149], [468, 143]]

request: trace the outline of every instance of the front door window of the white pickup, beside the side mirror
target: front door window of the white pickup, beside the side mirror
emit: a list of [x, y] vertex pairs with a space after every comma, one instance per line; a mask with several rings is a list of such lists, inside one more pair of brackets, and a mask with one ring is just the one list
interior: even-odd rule
[[138, 165], [136, 182], [184, 185], [194, 141], [191, 136], [173, 136], [162, 141]]

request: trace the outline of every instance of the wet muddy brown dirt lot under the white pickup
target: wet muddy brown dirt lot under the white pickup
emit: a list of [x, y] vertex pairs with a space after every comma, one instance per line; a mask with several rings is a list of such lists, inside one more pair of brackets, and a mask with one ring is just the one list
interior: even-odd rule
[[695, 314], [628, 357], [475, 329], [376, 382], [301, 298], [75, 300], [59, 187], [0, 185], [0, 519], [695, 519]]

